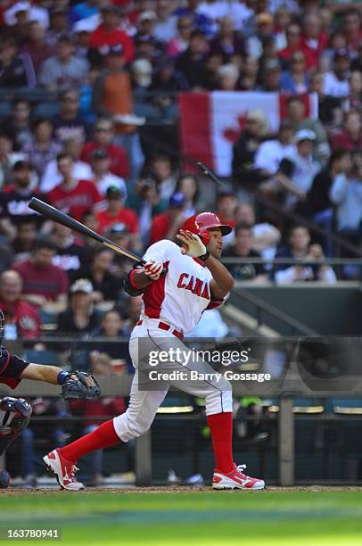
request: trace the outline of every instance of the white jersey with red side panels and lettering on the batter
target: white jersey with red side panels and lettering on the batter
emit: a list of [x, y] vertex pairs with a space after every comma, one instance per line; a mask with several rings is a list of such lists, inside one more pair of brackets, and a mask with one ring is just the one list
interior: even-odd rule
[[144, 289], [141, 318], [160, 318], [187, 334], [197, 325], [202, 312], [214, 309], [223, 301], [212, 301], [210, 270], [197, 258], [181, 253], [177, 244], [162, 240], [152, 244], [144, 260], [161, 261], [167, 274]]

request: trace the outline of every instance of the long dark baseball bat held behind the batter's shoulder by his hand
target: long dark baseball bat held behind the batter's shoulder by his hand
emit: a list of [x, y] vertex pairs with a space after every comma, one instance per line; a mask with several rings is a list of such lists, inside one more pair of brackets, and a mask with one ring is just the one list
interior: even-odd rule
[[86, 227], [81, 222], [78, 222], [78, 220], [71, 218], [70, 216], [68, 216], [68, 214], [65, 214], [62, 211], [58, 211], [57, 209], [52, 207], [52, 205], [44, 203], [44, 201], [37, 199], [37, 197], [31, 198], [29, 203], [29, 209], [37, 211], [49, 219], [53, 219], [54, 222], [58, 222], [58, 224], [62, 224], [62, 226], [70, 227], [70, 229], [78, 231], [78, 233], [90, 237], [91, 239], [98, 241], [98, 243], [104, 244], [104, 246], [107, 246], [112, 251], [119, 252], [119, 254], [126, 256], [127, 258], [129, 258], [129, 260], [136, 261], [136, 263], [139, 263], [140, 265], [144, 265], [145, 263], [145, 261], [137, 256], [137, 254], [135, 254], [134, 252], [126, 250], [122, 246], [119, 246], [119, 244], [112, 243], [109, 239], [106, 239], [106, 237], [100, 236], [98, 233], [95, 233], [93, 229]]

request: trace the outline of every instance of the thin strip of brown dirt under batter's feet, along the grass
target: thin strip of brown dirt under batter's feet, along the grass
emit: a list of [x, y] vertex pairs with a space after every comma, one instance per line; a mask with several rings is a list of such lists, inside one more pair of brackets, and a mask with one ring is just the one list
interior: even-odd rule
[[[358, 491], [362, 492], [362, 486], [359, 485], [296, 485], [295, 487], [276, 487], [271, 486], [267, 487], [265, 490], [261, 490], [258, 492], [253, 491], [252, 493], [259, 493], [259, 494], [267, 494], [270, 492], [350, 492], [350, 491]], [[7, 495], [22, 495], [22, 494], [32, 494], [32, 495], [53, 495], [54, 493], [62, 492], [64, 495], [68, 494], [74, 494], [72, 492], [67, 491], [61, 491], [59, 489], [53, 488], [34, 488], [34, 489], [21, 489], [16, 487], [9, 487], [9, 489], [1, 489], [0, 490], [0, 497], [1, 496], [7, 496]], [[136, 487], [136, 486], [129, 486], [129, 487], [119, 487], [119, 488], [104, 488], [104, 487], [88, 487], [84, 491], [77, 492], [78, 495], [89, 495], [94, 492], [103, 492], [103, 493], [143, 493], [143, 492], [164, 492], [164, 493], [179, 493], [179, 492], [214, 492], [216, 495], [218, 494], [218, 491], [213, 490], [211, 487], [185, 487], [185, 486], [152, 486], [152, 487]], [[229, 491], [230, 494], [237, 494], [237, 493], [243, 493], [240, 490], [237, 491]], [[246, 493], [251, 493], [249, 491], [246, 491]]]

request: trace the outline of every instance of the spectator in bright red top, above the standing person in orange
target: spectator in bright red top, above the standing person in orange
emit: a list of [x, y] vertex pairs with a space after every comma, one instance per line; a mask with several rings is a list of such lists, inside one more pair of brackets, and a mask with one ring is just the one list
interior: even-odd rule
[[91, 34], [89, 39], [89, 61], [92, 65], [102, 66], [104, 52], [111, 47], [119, 47], [124, 51], [125, 62], [133, 61], [135, 45], [126, 32], [119, 30], [122, 12], [115, 5], [106, 5], [102, 8], [102, 22]]

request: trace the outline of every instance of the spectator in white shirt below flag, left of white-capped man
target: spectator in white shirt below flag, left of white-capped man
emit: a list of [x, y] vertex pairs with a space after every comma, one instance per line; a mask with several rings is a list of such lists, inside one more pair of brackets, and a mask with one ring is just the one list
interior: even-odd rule
[[254, 169], [259, 179], [272, 178], [276, 174], [284, 155], [291, 153], [293, 150], [292, 140], [292, 123], [288, 120], [282, 120], [277, 137], [262, 142], [255, 154]]

